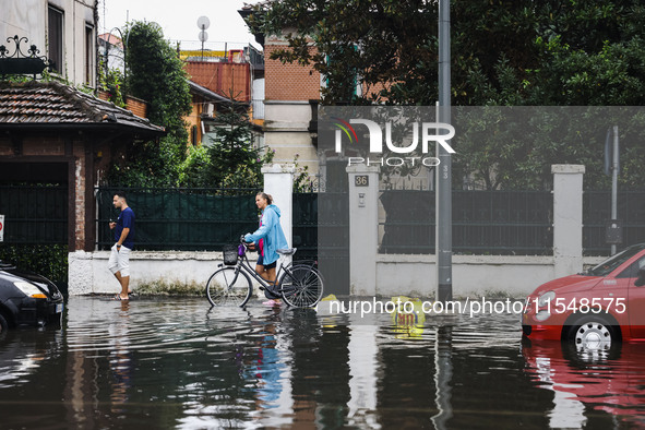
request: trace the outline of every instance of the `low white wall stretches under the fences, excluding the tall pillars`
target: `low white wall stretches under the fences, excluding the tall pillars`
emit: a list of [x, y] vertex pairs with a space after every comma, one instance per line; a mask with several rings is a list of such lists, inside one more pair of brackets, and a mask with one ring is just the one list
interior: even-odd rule
[[[116, 294], [119, 283], [107, 268], [108, 258], [108, 251], [71, 253], [70, 294]], [[597, 264], [602, 259], [585, 258], [584, 263]], [[133, 251], [131, 285], [136, 290], [142, 283], [165, 280], [196, 283], [205, 288], [220, 263], [220, 252]], [[374, 292], [385, 297], [431, 297], [434, 270], [434, 255], [378, 255]], [[491, 294], [519, 298], [556, 277], [556, 261], [553, 256], [454, 255], [453, 270], [456, 298]]]

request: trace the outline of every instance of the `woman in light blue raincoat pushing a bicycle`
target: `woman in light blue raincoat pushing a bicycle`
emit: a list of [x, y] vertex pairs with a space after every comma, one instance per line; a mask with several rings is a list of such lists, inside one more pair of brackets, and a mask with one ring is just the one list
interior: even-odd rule
[[[288, 248], [287, 238], [280, 227], [280, 210], [273, 204], [273, 198], [264, 192], [255, 195], [255, 205], [262, 211], [260, 228], [253, 234], [244, 235], [244, 241], [254, 242], [258, 248], [258, 263], [255, 272], [271, 285], [275, 285], [278, 249]], [[272, 294], [268, 289], [264, 291], [268, 301], [265, 304], [278, 304], [278, 295]]]

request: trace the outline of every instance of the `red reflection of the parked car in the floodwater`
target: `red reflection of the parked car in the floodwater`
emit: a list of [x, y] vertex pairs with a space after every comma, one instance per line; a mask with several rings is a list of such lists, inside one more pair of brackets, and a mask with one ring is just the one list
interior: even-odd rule
[[614, 345], [608, 350], [572, 343], [525, 342], [525, 371], [553, 391], [551, 428], [582, 428], [590, 408], [621, 421], [645, 426], [645, 345]]

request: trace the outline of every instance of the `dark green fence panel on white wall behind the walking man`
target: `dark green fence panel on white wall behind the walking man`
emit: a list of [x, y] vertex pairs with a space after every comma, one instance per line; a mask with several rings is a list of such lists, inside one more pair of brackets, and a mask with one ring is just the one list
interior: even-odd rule
[[115, 242], [109, 220], [117, 219], [112, 196], [124, 191], [135, 214], [138, 250], [215, 251], [258, 228], [256, 189], [98, 188], [97, 246]]

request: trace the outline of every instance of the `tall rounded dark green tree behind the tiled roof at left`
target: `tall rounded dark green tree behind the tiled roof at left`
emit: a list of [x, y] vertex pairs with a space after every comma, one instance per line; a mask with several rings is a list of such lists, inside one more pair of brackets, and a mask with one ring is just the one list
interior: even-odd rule
[[167, 135], [158, 144], [135, 142], [129, 146], [123, 163], [110, 170], [108, 181], [142, 187], [175, 184], [178, 166], [188, 153], [183, 121], [192, 109], [188, 76], [158, 24], [135, 21], [126, 29], [124, 39], [126, 92], [148, 103], [148, 119], [163, 126]]

